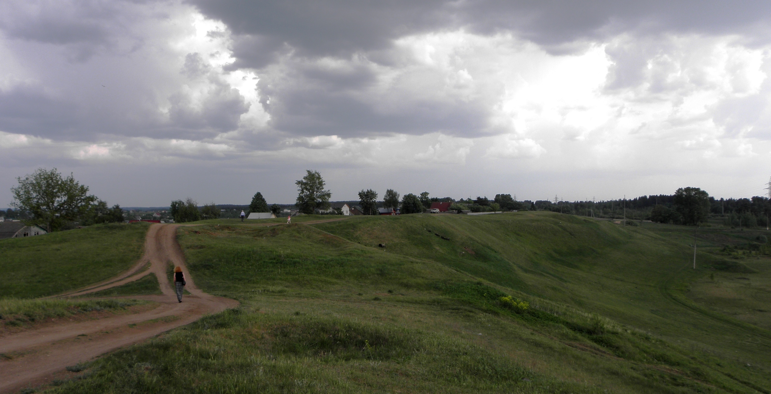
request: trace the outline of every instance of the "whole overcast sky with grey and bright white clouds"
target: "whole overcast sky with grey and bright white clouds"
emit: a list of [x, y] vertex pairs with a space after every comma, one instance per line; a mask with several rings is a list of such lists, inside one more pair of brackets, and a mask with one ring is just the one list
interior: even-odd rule
[[0, 207], [766, 193], [771, 2], [4, 0]]

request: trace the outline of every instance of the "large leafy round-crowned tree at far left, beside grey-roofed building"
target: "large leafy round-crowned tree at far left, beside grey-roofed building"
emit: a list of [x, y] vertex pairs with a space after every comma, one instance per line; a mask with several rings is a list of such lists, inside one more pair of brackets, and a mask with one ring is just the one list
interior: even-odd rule
[[16, 180], [19, 185], [11, 187], [11, 206], [29, 214], [28, 224], [45, 227], [49, 232], [77, 221], [96, 201], [96, 196], [88, 194], [89, 187], [79, 184], [72, 173], [63, 178], [56, 168], [39, 168]]

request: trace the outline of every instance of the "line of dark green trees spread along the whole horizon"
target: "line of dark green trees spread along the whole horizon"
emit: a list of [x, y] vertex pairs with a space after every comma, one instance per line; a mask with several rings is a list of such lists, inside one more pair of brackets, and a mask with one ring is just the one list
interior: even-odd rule
[[[11, 188], [15, 210], [5, 211], [5, 217], [22, 219], [36, 224], [46, 231], [58, 231], [90, 224], [121, 222], [125, 213], [120, 205], [109, 207], [106, 201], [89, 194], [89, 187], [79, 184], [72, 173], [63, 177], [56, 168], [39, 168], [25, 177], [17, 177], [18, 185]], [[303, 214], [328, 212], [332, 192], [326, 189], [325, 180], [316, 170], [306, 170], [305, 177], [295, 181], [298, 196], [295, 206]], [[728, 226], [756, 227], [769, 225], [771, 201], [768, 197], [738, 199], [715, 199], [699, 187], [681, 187], [674, 194], [658, 194], [625, 200], [602, 201], [517, 201], [511, 194], [496, 194], [488, 197], [471, 197], [454, 200], [451, 197], [430, 197], [429, 192], [400, 196], [393, 189], [385, 190], [382, 204], [378, 193], [372, 189], [359, 191], [359, 205], [363, 214], [379, 214], [379, 206], [400, 210], [402, 214], [418, 214], [431, 207], [433, 202], [449, 202], [450, 210], [458, 212], [507, 211], [507, 210], [551, 210], [563, 214], [578, 214], [591, 217], [631, 220], [651, 220], [671, 224], [700, 224], [710, 215], [720, 216]], [[254, 194], [249, 212], [272, 212], [279, 214], [278, 204], [268, 206], [260, 192]], [[340, 212], [337, 212], [340, 214]], [[214, 202], [198, 207], [191, 198], [173, 200], [170, 215], [177, 223], [216, 219], [221, 210]]]

